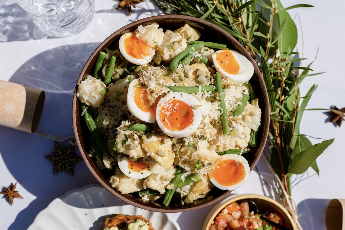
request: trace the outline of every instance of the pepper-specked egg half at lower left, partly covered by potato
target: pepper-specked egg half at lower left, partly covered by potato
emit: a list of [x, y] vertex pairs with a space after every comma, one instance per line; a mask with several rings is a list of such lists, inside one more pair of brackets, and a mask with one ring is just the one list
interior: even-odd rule
[[141, 161], [131, 161], [125, 154], [117, 157], [117, 164], [127, 177], [142, 179], [150, 176], [155, 169], [155, 164], [147, 164]]

